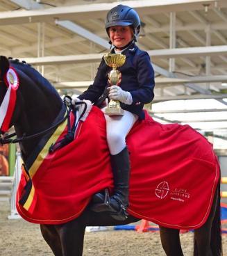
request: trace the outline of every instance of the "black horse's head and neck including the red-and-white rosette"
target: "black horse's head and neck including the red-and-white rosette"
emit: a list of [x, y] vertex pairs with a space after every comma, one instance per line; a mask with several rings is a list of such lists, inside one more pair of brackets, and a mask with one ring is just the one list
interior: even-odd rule
[[[24, 61], [0, 57], [0, 134], [13, 125], [17, 137], [38, 134], [64, 115], [60, 95], [51, 83]], [[20, 145], [26, 154], [40, 137]]]

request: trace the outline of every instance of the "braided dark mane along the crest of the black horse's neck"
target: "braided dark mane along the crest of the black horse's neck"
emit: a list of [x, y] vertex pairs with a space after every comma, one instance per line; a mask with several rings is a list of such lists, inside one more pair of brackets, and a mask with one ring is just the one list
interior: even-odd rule
[[37, 86], [43, 87], [44, 90], [48, 90], [49, 93], [56, 95], [56, 97], [60, 96], [58, 95], [58, 92], [56, 89], [51, 85], [51, 83], [42, 77], [42, 74], [37, 72], [34, 67], [32, 67], [30, 64], [26, 63], [25, 61], [20, 62], [18, 59], [9, 59], [10, 65], [12, 67], [15, 67], [15, 69], [20, 70], [24, 74], [26, 74], [27, 77], [29, 77]]

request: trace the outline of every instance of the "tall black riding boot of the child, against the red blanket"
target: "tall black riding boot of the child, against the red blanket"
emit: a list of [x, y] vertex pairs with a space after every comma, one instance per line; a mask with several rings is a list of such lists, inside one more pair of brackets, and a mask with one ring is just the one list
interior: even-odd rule
[[130, 161], [127, 147], [119, 154], [110, 157], [114, 179], [114, 193], [108, 198], [102, 193], [96, 193], [92, 200], [93, 211], [110, 211], [112, 218], [124, 221], [127, 218], [128, 207], [128, 182], [130, 176]]

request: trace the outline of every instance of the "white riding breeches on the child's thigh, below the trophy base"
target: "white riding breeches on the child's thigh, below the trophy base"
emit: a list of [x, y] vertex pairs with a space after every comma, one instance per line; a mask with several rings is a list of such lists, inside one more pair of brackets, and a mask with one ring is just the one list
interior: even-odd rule
[[[105, 108], [104, 108], [105, 109]], [[104, 109], [102, 111], [104, 112]], [[106, 115], [106, 138], [110, 154], [118, 154], [126, 147], [126, 136], [138, 116], [124, 110], [124, 115]]]

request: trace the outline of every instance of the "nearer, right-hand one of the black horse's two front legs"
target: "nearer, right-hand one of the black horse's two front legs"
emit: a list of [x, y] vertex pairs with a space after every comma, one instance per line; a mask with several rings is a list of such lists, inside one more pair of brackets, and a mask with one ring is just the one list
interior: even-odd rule
[[62, 256], [82, 256], [85, 223], [75, 219], [62, 225], [56, 225], [60, 237]]

